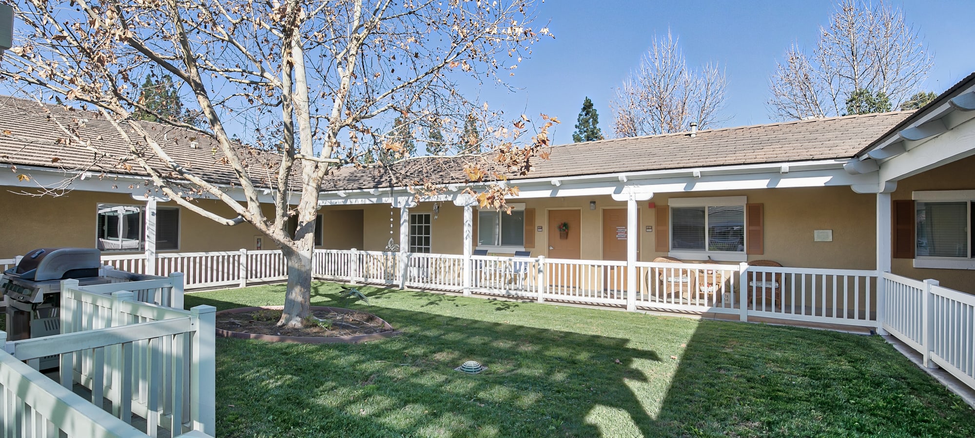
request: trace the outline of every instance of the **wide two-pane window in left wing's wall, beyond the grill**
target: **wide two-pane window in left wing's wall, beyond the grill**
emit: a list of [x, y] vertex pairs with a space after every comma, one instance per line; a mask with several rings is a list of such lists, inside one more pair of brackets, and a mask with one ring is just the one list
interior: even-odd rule
[[[145, 250], [145, 206], [98, 204], [96, 247], [102, 251]], [[156, 250], [179, 248], [179, 209], [156, 208]]]

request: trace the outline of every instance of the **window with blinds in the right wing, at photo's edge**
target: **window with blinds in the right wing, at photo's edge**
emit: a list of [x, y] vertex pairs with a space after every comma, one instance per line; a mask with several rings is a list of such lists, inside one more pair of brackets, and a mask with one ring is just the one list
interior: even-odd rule
[[915, 202], [917, 257], [971, 258], [972, 203]]

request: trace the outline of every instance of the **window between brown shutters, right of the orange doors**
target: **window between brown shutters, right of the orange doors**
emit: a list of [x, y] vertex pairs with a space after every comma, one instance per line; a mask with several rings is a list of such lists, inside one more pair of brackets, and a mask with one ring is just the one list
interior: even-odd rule
[[671, 200], [671, 251], [745, 252], [744, 197]]

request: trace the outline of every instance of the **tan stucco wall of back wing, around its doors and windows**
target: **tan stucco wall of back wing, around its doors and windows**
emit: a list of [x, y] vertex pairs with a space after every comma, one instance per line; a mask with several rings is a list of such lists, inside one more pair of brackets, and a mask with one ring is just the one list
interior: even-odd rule
[[[764, 208], [764, 253], [750, 255], [749, 260], [775, 260], [785, 266], [808, 268], [838, 268], [872, 270], [876, 261], [876, 196], [859, 195], [846, 187], [767, 189], [754, 191], [695, 192], [658, 194], [650, 201], [638, 202], [640, 207], [641, 238], [640, 259], [652, 260], [666, 253], [654, 249], [654, 231], [646, 233], [647, 225], [655, 224], [655, 208], [648, 202], [667, 205], [671, 198], [704, 198], [745, 196], [748, 202], [761, 202]], [[596, 201], [591, 210], [589, 202]], [[535, 233], [533, 256], [548, 255], [549, 209], [577, 208], [580, 211], [582, 259], [603, 258], [603, 210], [608, 207], [625, 207], [626, 202], [613, 201], [609, 196], [544, 198], [510, 200], [524, 202], [526, 208], [535, 209]], [[323, 207], [323, 210], [341, 207]], [[399, 209], [385, 205], [356, 206], [364, 209], [364, 248], [382, 250], [390, 237], [399, 242]], [[433, 211], [432, 202], [421, 202], [411, 211]], [[390, 216], [392, 212], [392, 216]], [[452, 202], [441, 202], [439, 217], [433, 221], [433, 252], [460, 254], [463, 252], [463, 209]], [[393, 218], [390, 234], [390, 217]], [[814, 242], [814, 230], [833, 230], [832, 242]]]

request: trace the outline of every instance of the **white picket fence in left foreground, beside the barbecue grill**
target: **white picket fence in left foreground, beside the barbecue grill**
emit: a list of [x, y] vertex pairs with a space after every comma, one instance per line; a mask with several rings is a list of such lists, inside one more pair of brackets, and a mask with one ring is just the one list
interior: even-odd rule
[[[171, 436], [214, 434], [215, 308], [182, 310], [181, 277], [63, 280], [61, 334], [5, 342], [0, 351], [0, 436], [156, 436], [158, 426]], [[51, 355], [59, 355], [63, 387], [35, 371]], [[72, 393], [75, 383], [91, 398]], [[144, 432], [130, 425], [134, 414], [145, 419]]]

